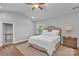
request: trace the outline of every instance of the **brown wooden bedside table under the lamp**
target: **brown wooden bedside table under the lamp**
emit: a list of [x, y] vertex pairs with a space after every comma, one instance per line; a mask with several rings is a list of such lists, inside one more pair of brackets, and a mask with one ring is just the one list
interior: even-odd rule
[[77, 38], [76, 37], [63, 37], [63, 45], [77, 49]]

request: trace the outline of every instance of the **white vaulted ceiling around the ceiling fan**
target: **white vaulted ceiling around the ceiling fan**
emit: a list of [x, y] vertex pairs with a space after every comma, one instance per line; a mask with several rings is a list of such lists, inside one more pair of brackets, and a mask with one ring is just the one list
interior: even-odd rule
[[0, 3], [0, 7], [2, 7], [0, 8], [0, 11], [18, 11], [30, 17], [34, 21], [39, 21], [78, 11], [79, 9], [72, 9], [75, 6], [79, 6], [79, 4], [48, 3], [43, 6], [43, 10], [32, 10], [30, 5], [24, 3]]

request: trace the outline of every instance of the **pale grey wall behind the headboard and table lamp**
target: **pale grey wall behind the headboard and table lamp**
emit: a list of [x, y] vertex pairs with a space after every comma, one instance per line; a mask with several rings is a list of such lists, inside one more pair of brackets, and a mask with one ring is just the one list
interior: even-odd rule
[[[62, 35], [67, 36], [67, 32], [65, 31], [67, 25], [74, 26], [74, 33], [73, 36], [79, 37], [79, 12], [69, 13], [63, 15], [61, 17], [51, 18], [43, 21], [39, 21], [38, 23], [44, 24], [44, 26], [57, 26], [60, 27], [63, 31]], [[79, 40], [78, 40], [78, 47], [79, 47]]]

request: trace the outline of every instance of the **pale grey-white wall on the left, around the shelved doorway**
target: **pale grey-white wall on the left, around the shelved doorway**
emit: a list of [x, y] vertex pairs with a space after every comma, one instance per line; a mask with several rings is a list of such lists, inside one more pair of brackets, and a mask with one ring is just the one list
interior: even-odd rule
[[35, 23], [19, 12], [0, 12], [0, 46], [3, 42], [2, 23], [12, 23], [14, 32], [14, 43], [27, 40], [34, 34]]

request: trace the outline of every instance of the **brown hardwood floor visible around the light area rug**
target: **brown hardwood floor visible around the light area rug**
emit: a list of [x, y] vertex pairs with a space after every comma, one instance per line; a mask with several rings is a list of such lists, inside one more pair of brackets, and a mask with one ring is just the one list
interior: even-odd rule
[[[27, 43], [27, 42], [24, 42], [24, 43]], [[22, 44], [19, 44], [19, 45], [22, 45]], [[79, 56], [79, 48], [74, 49], [74, 53], [75, 53], [75, 56]], [[0, 56], [24, 56], [24, 55], [15, 46], [8, 45], [0, 48]]]

